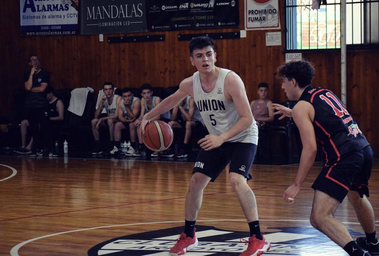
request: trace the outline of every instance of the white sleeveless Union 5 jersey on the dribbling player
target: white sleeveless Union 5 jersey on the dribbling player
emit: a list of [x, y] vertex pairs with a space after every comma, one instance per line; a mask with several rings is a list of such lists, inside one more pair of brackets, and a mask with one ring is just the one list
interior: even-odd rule
[[[233, 100], [227, 99], [224, 95], [225, 77], [229, 72], [233, 71], [220, 69], [216, 86], [210, 93], [204, 92], [201, 87], [199, 72], [195, 72], [193, 76], [195, 103], [208, 132], [216, 136], [229, 131], [231, 127], [241, 119]], [[258, 126], [254, 118], [252, 124], [247, 127], [245, 131], [227, 141], [254, 143], [258, 145]]]

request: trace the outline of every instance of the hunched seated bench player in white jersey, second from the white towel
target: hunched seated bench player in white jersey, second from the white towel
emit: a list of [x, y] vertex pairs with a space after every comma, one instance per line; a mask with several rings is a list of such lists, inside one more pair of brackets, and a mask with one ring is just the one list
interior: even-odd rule
[[[134, 121], [139, 117], [141, 112], [141, 100], [138, 97], [134, 97], [130, 88], [124, 88], [121, 90], [121, 100], [118, 103], [118, 122], [114, 126], [114, 138], [116, 144], [119, 145], [121, 141], [122, 130], [128, 129], [131, 146], [127, 152], [128, 155], [135, 153], [137, 144], [137, 130], [136, 126], [132, 125]], [[118, 152], [117, 146], [110, 152], [112, 155]]]

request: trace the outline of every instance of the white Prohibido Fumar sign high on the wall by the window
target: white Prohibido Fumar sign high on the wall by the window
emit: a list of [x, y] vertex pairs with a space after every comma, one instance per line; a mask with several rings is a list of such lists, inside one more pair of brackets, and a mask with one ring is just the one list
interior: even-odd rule
[[279, 0], [245, 0], [245, 29], [280, 29]]

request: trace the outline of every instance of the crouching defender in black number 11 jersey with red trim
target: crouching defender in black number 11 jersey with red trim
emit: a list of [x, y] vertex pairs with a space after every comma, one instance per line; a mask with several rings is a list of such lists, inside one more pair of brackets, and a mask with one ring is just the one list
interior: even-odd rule
[[[298, 174], [283, 194], [283, 199], [293, 202], [298, 195], [314, 158], [318, 141], [324, 151], [324, 165], [314, 181], [314, 198], [310, 223], [325, 233], [349, 255], [379, 255], [376, 239], [374, 211], [367, 197], [373, 153], [362, 131], [334, 93], [314, 88], [315, 74], [307, 61], [288, 62], [279, 67], [283, 79], [282, 89], [290, 100], [298, 100], [293, 110], [272, 104], [280, 119], [293, 117], [299, 128], [303, 151]], [[347, 195], [366, 232], [366, 238], [355, 242], [347, 228], [333, 217], [336, 208]], [[362, 248], [361, 248], [362, 247]]]

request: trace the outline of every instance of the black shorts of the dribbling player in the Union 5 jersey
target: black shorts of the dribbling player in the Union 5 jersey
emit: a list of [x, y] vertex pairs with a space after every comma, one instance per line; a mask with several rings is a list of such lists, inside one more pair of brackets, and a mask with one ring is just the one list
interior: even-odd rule
[[257, 145], [243, 142], [225, 142], [213, 150], [200, 150], [192, 173], [202, 173], [212, 182], [230, 161], [229, 173], [238, 173], [251, 180], [250, 167], [257, 153]]

